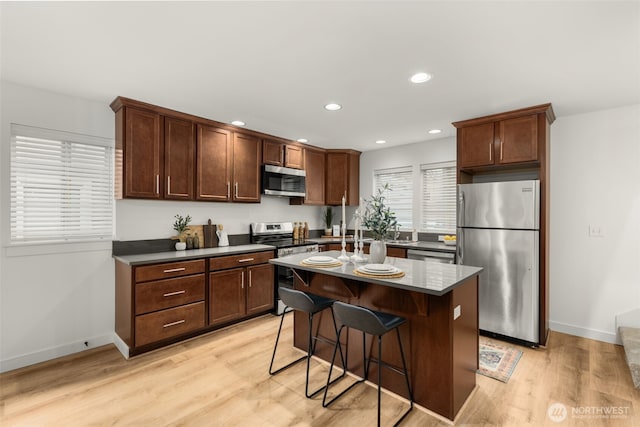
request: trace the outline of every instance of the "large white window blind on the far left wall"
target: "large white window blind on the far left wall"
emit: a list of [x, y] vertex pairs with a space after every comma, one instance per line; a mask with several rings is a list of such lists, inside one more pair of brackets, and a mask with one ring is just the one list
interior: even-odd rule
[[113, 141], [11, 125], [11, 243], [113, 237]]

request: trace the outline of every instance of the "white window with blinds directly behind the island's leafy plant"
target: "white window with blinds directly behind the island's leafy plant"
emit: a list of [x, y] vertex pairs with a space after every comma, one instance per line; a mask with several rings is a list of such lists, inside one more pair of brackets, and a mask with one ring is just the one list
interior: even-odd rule
[[[389, 179], [381, 179], [383, 176], [390, 176], [392, 178], [399, 179], [399, 182], [392, 183]], [[391, 208], [392, 212], [396, 213], [398, 220], [398, 228], [400, 230], [411, 230], [414, 224], [414, 178], [413, 178], [413, 166], [402, 166], [396, 168], [376, 169], [373, 171], [373, 191], [374, 194], [378, 193], [378, 189], [382, 188], [385, 183], [390, 183], [389, 188], [391, 191], [385, 194], [387, 204]], [[402, 186], [408, 186], [408, 189], [398, 195], [398, 184]], [[395, 193], [394, 193], [395, 192]], [[397, 203], [409, 203], [408, 208], [398, 209]], [[398, 212], [400, 211], [400, 212]], [[398, 216], [400, 215], [400, 216]], [[407, 223], [410, 221], [409, 223]]]

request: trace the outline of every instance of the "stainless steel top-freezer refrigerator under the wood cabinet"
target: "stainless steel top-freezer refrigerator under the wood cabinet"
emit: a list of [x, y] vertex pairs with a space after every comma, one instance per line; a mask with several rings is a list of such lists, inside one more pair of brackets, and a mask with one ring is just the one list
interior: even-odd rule
[[540, 181], [458, 185], [458, 263], [483, 267], [480, 330], [539, 341]]

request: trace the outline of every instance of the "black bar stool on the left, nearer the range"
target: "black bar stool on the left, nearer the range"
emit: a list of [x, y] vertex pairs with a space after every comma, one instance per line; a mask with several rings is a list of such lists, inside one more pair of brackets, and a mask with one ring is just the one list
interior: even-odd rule
[[[332, 344], [335, 345], [335, 341], [329, 340], [327, 338], [324, 337], [319, 337], [317, 334], [316, 336], [313, 336], [312, 334], [312, 330], [313, 330], [313, 316], [316, 313], [319, 313], [325, 309], [330, 309], [331, 310], [331, 319], [333, 320], [333, 329], [336, 332], [336, 337], [338, 336], [338, 327], [336, 325], [336, 319], [335, 316], [333, 314], [333, 303], [335, 302], [335, 300], [331, 299], [331, 298], [325, 298], [325, 297], [321, 297], [319, 295], [314, 295], [308, 292], [302, 292], [302, 291], [298, 291], [295, 289], [290, 289], [290, 288], [279, 288], [278, 289], [278, 293], [280, 294], [280, 299], [282, 300], [282, 302], [285, 304], [285, 308], [283, 310], [282, 313], [282, 317], [280, 319], [280, 327], [278, 328], [278, 335], [276, 336], [276, 343], [273, 347], [273, 355], [271, 356], [271, 364], [269, 365], [269, 374], [271, 375], [275, 375], [281, 371], [284, 371], [287, 368], [290, 368], [291, 366], [295, 365], [296, 363], [307, 359], [307, 376], [306, 376], [306, 380], [305, 380], [305, 388], [304, 388], [304, 394], [307, 398], [313, 397], [316, 394], [318, 394], [319, 392], [321, 392], [322, 390], [324, 390], [327, 386], [324, 385], [322, 387], [320, 387], [318, 390], [314, 391], [313, 393], [309, 393], [309, 362], [311, 361], [311, 356], [315, 353], [316, 350], [316, 343], [318, 341], [322, 341], [328, 344]], [[282, 323], [284, 322], [284, 315], [294, 311], [294, 310], [298, 310], [298, 311], [302, 311], [304, 313], [307, 313], [309, 316], [309, 327], [308, 327], [308, 333], [307, 333], [307, 354], [305, 356], [300, 357], [299, 359], [294, 360], [293, 362], [277, 369], [277, 370], [273, 370], [273, 361], [276, 357], [276, 350], [278, 349], [278, 341], [280, 340], [280, 332], [282, 331]], [[333, 357], [335, 359], [335, 351], [333, 354]], [[339, 380], [340, 378], [342, 378], [345, 373], [346, 373], [346, 364], [344, 363], [344, 356], [342, 353], [342, 348], [340, 348], [340, 359], [342, 360], [342, 367], [343, 367], [343, 371], [342, 374], [338, 377], [336, 377], [335, 379], [333, 379], [333, 381], [330, 381], [329, 384], [334, 383], [335, 381]], [[329, 373], [329, 379], [331, 379], [331, 373]]]

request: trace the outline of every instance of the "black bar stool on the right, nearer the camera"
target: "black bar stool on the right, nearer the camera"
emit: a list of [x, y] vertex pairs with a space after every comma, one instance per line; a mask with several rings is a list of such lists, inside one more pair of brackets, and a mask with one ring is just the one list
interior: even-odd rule
[[[340, 301], [336, 301], [333, 304], [333, 312], [335, 317], [338, 319], [340, 323], [340, 329], [338, 330], [338, 338], [336, 340], [336, 345], [333, 349], [333, 356], [331, 358], [331, 367], [329, 368], [329, 378], [327, 379], [327, 385], [324, 390], [324, 397], [322, 398], [322, 406], [325, 408], [333, 403], [340, 396], [345, 394], [347, 391], [351, 390], [354, 386], [359, 383], [366, 381], [369, 375], [369, 363], [371, 362], [372, 357], [367, 358], [366, 352], [366, 334], [375, 335], [378, 337], [378, 358], [376, 359], [378, 362], [378, 426], [380, 426], [380, 398], [381, 398], [381, 367], [385, 366], [394, 372], [397, 372], [401, 375], [404, 375], [405, 382], [407, 384], [407, 390], [409, 391], [409, 409], [400, 417], [398, 421], [394, 424], [397, 426], [400, 422], [411, 412], [413, 409], [413, 393], [411, 391], [411, 386], [409, 385], [409, 374], [407, 372], [407, 364], [404, 358], [404, 350], [402, 348], [402, 340], [400, 339], [400, 330], [398, 327], [405, 323], [407, 319], [404, 317], [396, 316], [389, 313], [383, 313], [380, 311], [370, 310], [365, 307], [360, 307], [351, 304], [345, 304]], [[364, 377], [359, 381], [351, 384], [345, 390], [340, 392], [337, 396], [334, 396], [330, 401], [327, 402], [327, 392], [329, 391], [329, 379], [331, 378], [331, 371], [333, 370], [333, 364], [336, 357], [336, 351], [340, 347], [340, 334], [344, 327], [353, 328], [359, 331], [362, 331], [362, 355], [363, 355], [363, 367], [364, 367]], [[396, 330], [396, 336], [398, 337], [398, 345], [400, 346], [400, 356], [402, 357], [402, 370], [397, 369], [394, 366], [391, 366], [382, 360], [382, 336], [391, 330]], [[342, 350], [341, 350], [342, 351]], [[344, 365], [343, 365], [344, 366]]]

